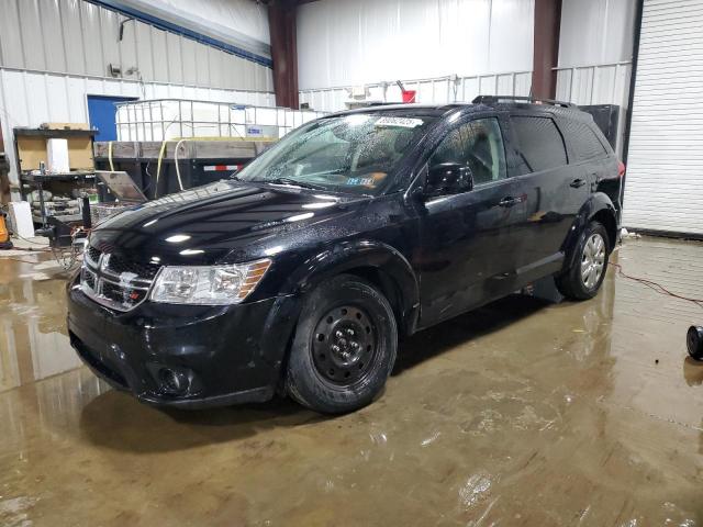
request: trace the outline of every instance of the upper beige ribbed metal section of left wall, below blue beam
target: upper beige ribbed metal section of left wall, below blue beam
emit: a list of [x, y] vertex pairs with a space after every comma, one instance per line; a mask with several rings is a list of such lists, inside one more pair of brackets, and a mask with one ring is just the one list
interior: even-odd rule
[[2, 0], [0, 67], [145, 82], [272, 91], [271, 70], [83, 0]]

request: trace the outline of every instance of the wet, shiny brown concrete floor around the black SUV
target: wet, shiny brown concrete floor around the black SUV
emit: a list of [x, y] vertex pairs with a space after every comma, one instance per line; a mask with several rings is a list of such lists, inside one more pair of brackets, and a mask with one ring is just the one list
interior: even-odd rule
[[[703, 298], [701, 244], [615, 259]], [[381, 399], [336, 418], [143, 406], [77, 368], [63, 288], [51, 264], [0, 258], [0, 525], [703, 522], [703, 365], [684, 345], [703, 310], [614, 269], [592, 301], [512, 296], [414, 336]]]

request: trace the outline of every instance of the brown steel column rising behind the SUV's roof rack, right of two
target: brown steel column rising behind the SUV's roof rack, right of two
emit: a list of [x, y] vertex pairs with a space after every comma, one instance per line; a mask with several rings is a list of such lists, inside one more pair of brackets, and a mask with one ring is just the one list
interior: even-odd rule
[[557, 93], [561, 0], [535, 0], [532, 96], [554, 99]]

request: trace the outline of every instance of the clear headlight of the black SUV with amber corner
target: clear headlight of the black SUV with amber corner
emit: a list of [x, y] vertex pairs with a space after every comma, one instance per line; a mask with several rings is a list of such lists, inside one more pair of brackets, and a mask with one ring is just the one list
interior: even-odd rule
[[167, 304], [237, 304], [254, 291], [271, 260], [230, 266], [164, 267], [150, 300]]

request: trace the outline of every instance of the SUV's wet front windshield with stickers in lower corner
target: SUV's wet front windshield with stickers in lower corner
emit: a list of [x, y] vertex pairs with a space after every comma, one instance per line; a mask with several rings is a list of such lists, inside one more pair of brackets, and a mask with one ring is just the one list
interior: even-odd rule
[[283, 137], [236, 179], [379, 194], [432, 121], [378, 113], [321, 119]]

